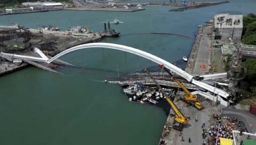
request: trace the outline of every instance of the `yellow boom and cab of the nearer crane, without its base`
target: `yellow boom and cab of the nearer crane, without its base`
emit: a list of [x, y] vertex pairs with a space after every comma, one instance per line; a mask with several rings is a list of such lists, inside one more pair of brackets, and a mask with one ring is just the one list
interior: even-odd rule
[[154, 77], [147, 71], [147, 68], [144, 69], [144, 71], [150, 75], [150, 78], [154, 81], [155, 85], [157, 85], [158, 89], [163, 93], [163, 96], [165, 96], [165, 99], [167, 102], [172, 106], [173, 111], [175, 111], [175, 120], [181, 124], [187, 124], [189, 122], [189, 119], [184, 117], [184, 115], [180, 112], [179, 108], [177, 108], [176, 104], [172, 102], [171, 99], [169, 99], [166, 92], [162, 89], [162, 87], [158, 84], [158, 82], [155, 80]]

